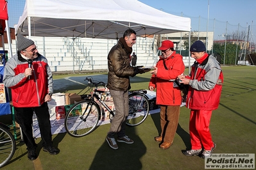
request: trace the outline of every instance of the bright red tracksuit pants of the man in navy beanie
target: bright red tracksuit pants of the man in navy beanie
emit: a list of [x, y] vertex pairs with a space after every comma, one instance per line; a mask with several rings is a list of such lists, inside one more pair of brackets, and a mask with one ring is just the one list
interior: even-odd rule
[[202, 111], [191, 109], [189, 121], [189, 134], [191, 136], [192, 150], [211, 150], [214, 146], [212, 135], [210, 134], [210, 117], [212, 111]]

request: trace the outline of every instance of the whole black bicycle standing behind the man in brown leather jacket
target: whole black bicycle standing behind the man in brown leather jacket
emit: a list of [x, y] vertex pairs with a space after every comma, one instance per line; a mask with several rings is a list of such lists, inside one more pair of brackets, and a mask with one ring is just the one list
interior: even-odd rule
[[[109, 112], [110, 123], [115, 115], [115, 109], [113, 107], [110, 109], [105, 103], [106, 98], [110, 97], [109, 91], [99, 90], [102, 86], [103, 89], [107, 89], [107, 84], [93, 81], [92, 77], [86, 77], [85, 81], [88, 81], [89, 86], [92, 85], [89, 87], [92, 90], [91, 94], [83, 95], [83, 100], [74, 104], [65, 116], [65, 130], [73, 137], [90, 134], [97, 127], [99, 120], [104, 120], [105, 112], [101, 112], [101, 108]], [[146, 92], [146, 90], [129, 92], [129, 114], [126, 118], [126, 125], [133, 127], [146, 120], [149, 113]]]

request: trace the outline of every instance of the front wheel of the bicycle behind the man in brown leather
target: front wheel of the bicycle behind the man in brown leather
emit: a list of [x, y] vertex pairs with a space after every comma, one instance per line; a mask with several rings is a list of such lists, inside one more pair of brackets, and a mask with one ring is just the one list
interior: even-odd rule
[[74, 104], [66, 113], [65, 130], [73, 137], [81, 137], [92, 132], [99, 119], [99, 105], [91, 100], [83, 100]]

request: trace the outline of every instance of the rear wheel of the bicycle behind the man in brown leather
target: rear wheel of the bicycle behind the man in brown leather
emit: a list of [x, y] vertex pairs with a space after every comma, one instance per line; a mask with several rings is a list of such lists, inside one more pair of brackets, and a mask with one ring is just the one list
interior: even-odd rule
[[132, 93], [129, 95], [129, 114], [126, 125], [137, 126], [146, 120], [149, 112], [148, 98], [143, 93]]

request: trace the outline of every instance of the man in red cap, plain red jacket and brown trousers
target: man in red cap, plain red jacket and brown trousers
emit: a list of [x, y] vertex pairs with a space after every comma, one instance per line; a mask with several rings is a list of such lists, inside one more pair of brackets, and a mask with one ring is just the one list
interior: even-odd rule
[[157, 88], [157, 104], [160, 105], [162, 132], [155, 137], [155, 141], [162, 143], [160, 148], [167, 150], [173, 144], [182, 103], [180, 88], [175, 79], [184, 72], [185, 66], [182, 56], [176, 54], [173, 42], [170, 40], [164, 40], [158, 49], [161, 50], [162, 56], [157, 61], [155, 70], [151, 72], [148, 88], [151, 91]]

